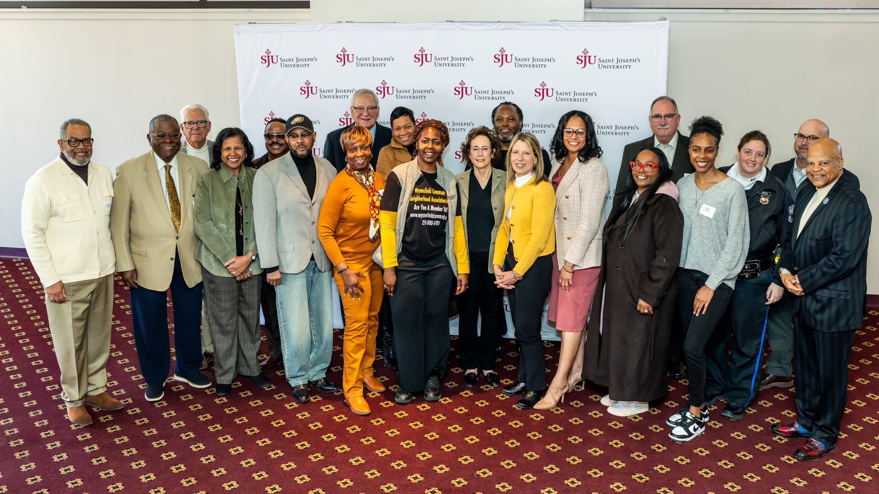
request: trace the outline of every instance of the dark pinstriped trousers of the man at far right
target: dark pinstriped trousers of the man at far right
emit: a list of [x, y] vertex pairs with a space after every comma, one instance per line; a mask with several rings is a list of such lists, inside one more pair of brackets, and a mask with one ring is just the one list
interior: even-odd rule
[[810, 431], [813, 440], [832, 446], [846, 410], [854, 330], [815, 331], [797, 315], [794, 331], [796, 423]]

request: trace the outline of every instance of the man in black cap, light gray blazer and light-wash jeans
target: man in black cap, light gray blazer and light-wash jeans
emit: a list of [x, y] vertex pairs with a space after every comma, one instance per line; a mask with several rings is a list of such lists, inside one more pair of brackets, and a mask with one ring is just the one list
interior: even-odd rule
[[287, 119], [287, 155], [266, 163], [253, 179], [253, 221], [259, 265], [275, 287], [287, 381], [297, 402], [309, 401], [309, 383], [334, 393], [327, 379], [332, 352], [332, 265], [317, 238], [317, 214], [333, 165], [312, 154], [309, 117]]

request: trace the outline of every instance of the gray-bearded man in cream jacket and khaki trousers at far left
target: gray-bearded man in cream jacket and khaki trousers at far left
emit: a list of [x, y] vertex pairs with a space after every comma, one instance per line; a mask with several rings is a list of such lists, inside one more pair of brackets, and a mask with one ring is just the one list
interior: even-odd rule
[[67, 417], [91, 424], [85, 405], [119, 410], [106, 392], [115, 256], [108, 218], [113, 173], [91, 161], [91, 126], [62, 123], [61, 153], [25, 184], [21, 236], [40, 277]]

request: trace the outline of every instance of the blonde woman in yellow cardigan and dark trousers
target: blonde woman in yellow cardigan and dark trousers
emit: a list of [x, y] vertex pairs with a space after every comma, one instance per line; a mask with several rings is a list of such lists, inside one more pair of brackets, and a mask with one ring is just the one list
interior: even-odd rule
[[[534, 134], [516, 134], [506, 156], [504, 222], [495, 241], [494, 272], [506, 288], [512, 325], [519, 341], [519, 379], [501, 391], [522, 395], [516, 406], [527, 410], [547, 389], [541, 319], [555, 267], [556, 191], [543, 172], [541, 144]], [[501, 267], [503, 266], [503, 268]]]

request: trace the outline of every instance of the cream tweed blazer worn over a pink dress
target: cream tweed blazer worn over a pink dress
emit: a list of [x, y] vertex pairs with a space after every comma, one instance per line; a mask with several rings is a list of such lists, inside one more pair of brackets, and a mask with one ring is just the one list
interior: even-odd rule
[[[562, 163], [554, 162], [550, 179]], [[574, 269], [601, 265], [601, 227], [605, 200], [610, 190], [607, 167], [599, 158], [586, 163], [574, 160], [556, 189], [556, 257]]]

